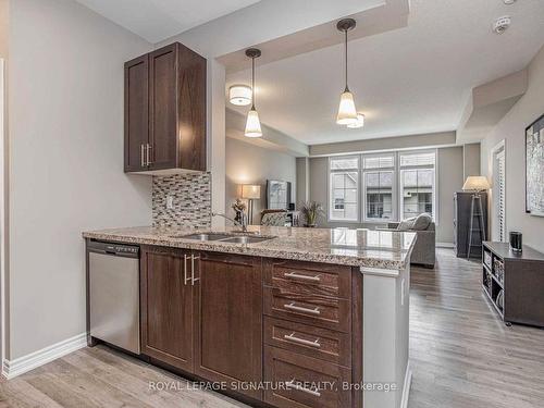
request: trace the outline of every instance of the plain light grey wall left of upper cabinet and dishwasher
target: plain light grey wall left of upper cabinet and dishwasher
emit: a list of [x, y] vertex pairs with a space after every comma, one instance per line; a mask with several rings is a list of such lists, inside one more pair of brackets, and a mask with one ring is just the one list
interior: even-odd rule
[[85, 331], [81, 233], [149, 224], [150, 177], [123, 173], [123, 62], [151, 46], [71, 0], [10, 9], [10, 349]]

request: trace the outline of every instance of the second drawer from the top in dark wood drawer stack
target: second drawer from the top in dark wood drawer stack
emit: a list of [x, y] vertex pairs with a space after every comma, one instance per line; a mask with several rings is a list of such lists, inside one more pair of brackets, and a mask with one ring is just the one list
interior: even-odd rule
[[264, 286], [264, 314], [349, 333], [350, 301]]

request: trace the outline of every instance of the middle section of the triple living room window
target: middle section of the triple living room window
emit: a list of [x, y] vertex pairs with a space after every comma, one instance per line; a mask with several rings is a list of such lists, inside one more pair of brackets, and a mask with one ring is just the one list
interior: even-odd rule
[[363, 157], [364, 220], [392, 220], [395, 156]]

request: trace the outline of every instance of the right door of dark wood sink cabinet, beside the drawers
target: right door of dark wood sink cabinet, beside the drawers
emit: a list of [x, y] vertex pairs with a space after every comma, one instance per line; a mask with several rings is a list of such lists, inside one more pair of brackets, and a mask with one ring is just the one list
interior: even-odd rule
[[[261, 259], [200, 254], [195, 374], [211, 381], [262, 380]], [[261, 398], [259, 390], [242, 394]]]

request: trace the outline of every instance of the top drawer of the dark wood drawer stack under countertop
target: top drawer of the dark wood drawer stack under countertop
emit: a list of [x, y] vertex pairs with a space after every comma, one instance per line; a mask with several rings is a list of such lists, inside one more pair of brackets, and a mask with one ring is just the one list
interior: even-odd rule
[[321, 296], [351, 298], [351, 268], [293, 260], [267, 260], [264, 284]]

